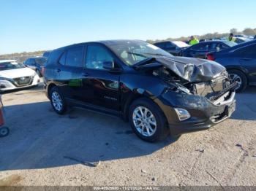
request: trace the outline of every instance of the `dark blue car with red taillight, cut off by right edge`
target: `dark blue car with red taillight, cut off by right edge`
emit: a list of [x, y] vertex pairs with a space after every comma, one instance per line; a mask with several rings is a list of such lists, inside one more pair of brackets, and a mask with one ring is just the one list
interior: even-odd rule
[[207, 58], [225, 66], [230, 78], [238, 83], [237, 92], [244, 90], [247, 85], [256, 85], [256, 40], [210, 52]]

